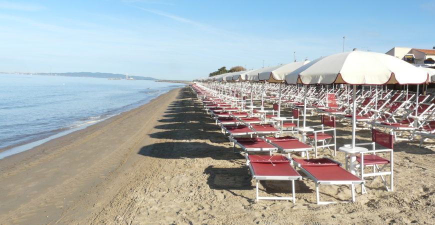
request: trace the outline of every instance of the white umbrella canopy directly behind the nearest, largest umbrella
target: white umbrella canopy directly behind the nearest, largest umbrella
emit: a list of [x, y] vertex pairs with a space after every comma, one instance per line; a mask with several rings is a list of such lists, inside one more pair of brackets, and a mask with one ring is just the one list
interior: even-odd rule
[[287, 74], [308, 62], [308, 60], [305, 60], [267, 67], [258, 73], [258, 78], [259, 80], [265, 80], [267, 82], [280, 83], [285, 80]]

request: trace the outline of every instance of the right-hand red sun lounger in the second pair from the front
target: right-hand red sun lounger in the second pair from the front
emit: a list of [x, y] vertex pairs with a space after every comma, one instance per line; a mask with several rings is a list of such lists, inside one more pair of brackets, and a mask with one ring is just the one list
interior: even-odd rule
[[308, 150], [314, 149], [314, 147], [302, 143], [292, 136], [265, 137], [265, 139], [272, 145], [276, 146], [280, 152], [287, 153], [288, 157], [290, 157], [290, 152], [304, 151], [306, 153], [306, 158], [308, 159]]

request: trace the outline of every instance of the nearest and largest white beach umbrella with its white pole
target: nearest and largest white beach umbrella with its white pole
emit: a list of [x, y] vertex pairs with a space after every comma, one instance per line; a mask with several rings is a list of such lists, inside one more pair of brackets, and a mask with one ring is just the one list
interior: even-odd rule
[[354, 148], [356, 85], [420, 84], [426, 82], [427, 77], [427, 72], [391, 55], [353, 50], [317, 58], [288, 74], [285, 81], [305, 86], [331, 83], [353, 85], [351, 147]]

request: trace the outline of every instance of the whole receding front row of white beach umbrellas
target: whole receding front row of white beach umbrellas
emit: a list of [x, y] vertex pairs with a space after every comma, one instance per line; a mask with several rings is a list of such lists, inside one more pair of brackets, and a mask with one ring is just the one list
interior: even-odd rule
[[[430, 76], [430, 79], [429, 79]], [[356, 85], [383, 84], [422, 84], [435, 82], [435, 69], [415, 67], [391, 55], [353, 50], [323, 56], [313, 61], [291, 62], [288, 64], [269, 66], [212, 77], [198, 78], [194, 81], [251, 81], [274, 82], [287, 84], [350, 84], [352, 95], [352, 142], [355, 147], [355, 90]], [[279, 87], [281, 87], [281, 84]], [[278, 93], [280, 94], [281, 91]], [[418, 85], [417, 85], [418, 92]], [[280, 95], [278, 97], [280, 99]], [[278, 101], [280, 103], [280, 101]], [[417, 102], [418, 103], [418, 102]], [[304, 97], [303, 121], [305, 121], [306, 96]], [[279, 117], [279, 115], [278, 115]], [[305, 127], [305, 122], [303, 122]]]

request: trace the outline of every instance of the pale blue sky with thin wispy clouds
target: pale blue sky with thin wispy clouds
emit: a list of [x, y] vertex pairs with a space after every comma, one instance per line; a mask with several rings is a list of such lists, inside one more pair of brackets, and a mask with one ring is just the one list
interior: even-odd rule
[[0, 0], [1, 72], [191, 80], [358, 48], [435, 46], [435, 0]]

